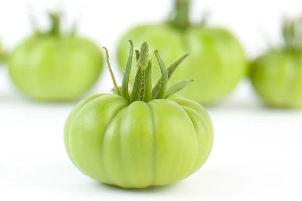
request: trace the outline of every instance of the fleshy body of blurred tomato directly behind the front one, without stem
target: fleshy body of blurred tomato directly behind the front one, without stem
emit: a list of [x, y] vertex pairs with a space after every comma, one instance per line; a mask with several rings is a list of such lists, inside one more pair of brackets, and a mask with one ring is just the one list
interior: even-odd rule
[[[181, 64], [183, 67], [174, 72], [169, 83], [171, 86], [179, 80], [193, 79], [194, 82], [179, 94], [202, 105], [215, 104], [229, 94], [246, 74], [244, 51], [235, 37], [224, 29], [191, 27], [181, 32], [167, 24], [136, 27], [121, 39], [118, 46], [117, 58], [122, 70], [129, 54], [126, 51], [128, 39], [133, 41], [134, 47], [148, 41], [151, 48], [159, 50], [167, 66], [188, 52], [188, 58]], [[154, 65], [158, 65], [153, 55], [151, 58]], [[159, 70], [154, 69], [153, 77], [156, 83], [160, 78]]]

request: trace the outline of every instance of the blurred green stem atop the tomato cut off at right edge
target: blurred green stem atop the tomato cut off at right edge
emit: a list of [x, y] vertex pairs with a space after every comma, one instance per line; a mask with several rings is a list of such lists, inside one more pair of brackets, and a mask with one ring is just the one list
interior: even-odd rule
[[286, 49], [302, 50], [302, 17], [284, 19], [282, 35]]

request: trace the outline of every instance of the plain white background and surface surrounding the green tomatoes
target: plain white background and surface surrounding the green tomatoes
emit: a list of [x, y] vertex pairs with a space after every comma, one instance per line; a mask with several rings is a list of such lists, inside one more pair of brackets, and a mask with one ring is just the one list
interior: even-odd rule
[[[55, 5], [64, 7], [65, 25], [81, 16], [79, 33], [100, 47], [107, 46], [115, 66], [118, 37], [137, 23], [160, 22], [172, 1], [0, 0], [0, 36], [5, 48], [12, 50], [31, 34], [28, 8], [45, 29], [44, 12]], [[195, 0], [195, 22], [204, 10], [212, 13], [211, 24], [231, 29], [248, 57], [254, 58], [268, 44], [281, 43], [281, 17], [302, 14], [302, 3]], [[106, 70], [86, 95], [111, 87]], [[191, 177], [165, 187], [126, 190], [98, 184], [75, 169], [62, 136], [65, 119], [77, 102], [31, 102], [16, 91], [7, 67], [0, 66], [0, 200], [302, 200], [302, 112], [264, 108], [248, 80], [220, 105], [208, 109], [215, 142], [205, 165]]]

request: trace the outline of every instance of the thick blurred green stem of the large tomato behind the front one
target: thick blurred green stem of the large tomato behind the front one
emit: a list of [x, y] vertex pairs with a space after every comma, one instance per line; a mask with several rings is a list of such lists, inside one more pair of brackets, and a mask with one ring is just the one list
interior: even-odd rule
[[172, 24], [179, 29], [187, 29], [190, 26], [189, 13], [189, 0], [175, 0], [174, 18], [172, 19]]

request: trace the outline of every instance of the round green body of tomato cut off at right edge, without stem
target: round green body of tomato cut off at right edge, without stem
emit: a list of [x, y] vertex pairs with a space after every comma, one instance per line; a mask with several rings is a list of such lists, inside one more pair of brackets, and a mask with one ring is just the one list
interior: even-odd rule
[[302, 51], [269, 51], [255, 60], [250, 76], [268, 106], [302, 108]]

